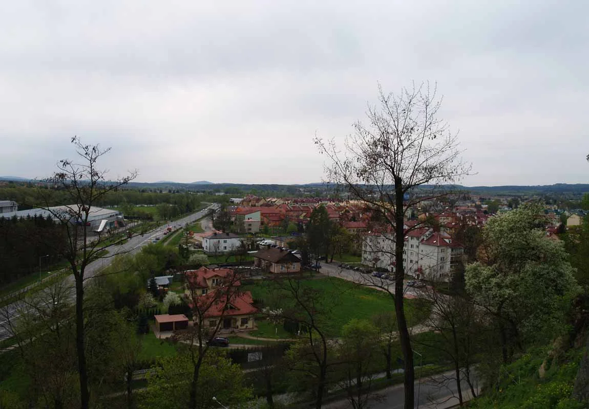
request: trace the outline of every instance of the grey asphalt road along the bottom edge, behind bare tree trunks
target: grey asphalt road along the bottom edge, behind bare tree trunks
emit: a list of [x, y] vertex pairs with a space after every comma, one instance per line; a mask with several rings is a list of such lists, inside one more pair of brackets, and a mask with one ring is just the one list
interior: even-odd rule
[[[458, 405], [458, 388], [454, 381], [454, 371], [422, 378], [421, 387], [415, 383], [415, 407], [423, 409], [445, 409]], [[478, 393], [478, 385], [475, 383], [475, 391]], [[461, 382], [462, 397], [464, 401], [472, 398], [470, 388], [466, 381]], [[403, 384], [393, 385], [376, 392], [370, 399], [371, 409], [402, 409], [405, 401]], [[419, 394], [419, 395], [418, 395]], [[339, 400], [326, 405], [326, 409], [350, 408], [348, 400]]]

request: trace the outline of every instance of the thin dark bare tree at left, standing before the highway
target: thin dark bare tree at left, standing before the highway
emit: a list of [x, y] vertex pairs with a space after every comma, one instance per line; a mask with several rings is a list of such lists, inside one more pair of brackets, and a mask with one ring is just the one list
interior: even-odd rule
[[84, 281], [87, 276], [88, 264], [101, 257], [101, 254], [110, 246], [114, 246], [126, 237], [121, 237], [118, 242], [107, 242], [106, 237], [98, 233], [95, 240], [89, 240], [93, 227], [90, 226], [92, 213], [101, 199], [109, 192], [117, 190], [137, 177], [137, 172], [111, 181], [105, 179], [107, 172], [98, 169], [100, 158], [110, 151], [110, 148], [102, 149], [99, 145], [84, 145], [77, 136], [71, 139], [77, 160], [63, 159], [58, 162], [58, 171], [49, 177], [46, 182], [51, 183], [57, 189], [64, 190], [72, 204], [59, 207], [49, 207], [48, 191], [41, 190], [45, 199], [45, 210], [57, 220], [64, 229], [67, 237], [67, 245], [62, 251], [62, 256], [68, 261], [69, 268], [75, 281], [75, 327], [76, 327], [76, 352], [78, 374], [80, 378], [80, 407], [87, 409], [90, 402], [90, 390], [88, 388], [88, 368], [85, 354], [85, 323], [84, 323]]

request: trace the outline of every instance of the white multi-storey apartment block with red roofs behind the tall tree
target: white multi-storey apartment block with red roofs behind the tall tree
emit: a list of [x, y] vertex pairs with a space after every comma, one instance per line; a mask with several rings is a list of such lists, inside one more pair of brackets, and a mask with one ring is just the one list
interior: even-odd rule
[[[411, 230], [405, 236], [403, 266], [405, 273], [418, 278], [448, 280], [452, 268], [461, 259], [464, 248], [447, 233], [429, 227]], [[392, 233], [366, 234], [362, 263], [395, 271], [395, 236]]]

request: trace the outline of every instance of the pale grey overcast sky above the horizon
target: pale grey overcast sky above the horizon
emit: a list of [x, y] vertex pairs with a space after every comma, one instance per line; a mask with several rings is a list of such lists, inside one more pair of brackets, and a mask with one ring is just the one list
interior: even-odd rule
[[4, 1], [0, 175], [45, 177], [70, 138], [111, 176], [308, 183], [315, 134], [438, 83], [477, 175], [588, 183], [584, 1]]

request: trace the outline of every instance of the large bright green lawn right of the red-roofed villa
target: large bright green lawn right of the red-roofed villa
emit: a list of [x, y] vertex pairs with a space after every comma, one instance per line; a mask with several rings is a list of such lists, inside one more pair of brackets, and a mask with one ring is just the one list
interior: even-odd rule
[[[329, 336], [340, 335], [342, 327], [351, 319], [370, 320], [375, 314], [382, 311], [394, 311], [392, 297], [384, 291], [362, 287], [358, 284], [336, 277], [317, 277], [315, 279], [304, 279], [303, 285], [319, 290], [322, 294], [322, 310], [325, 310], [325, 322], [323, 326]], [[264, 303], [271, 303], [272, 300], [279, 300], [288, 297], [289, 294], [276, 289], [272, 281], [242, 286], [243, 290], [252, 291], [254, 299], [261, 299]], [[423, 321], [429, 315], [429, 305], [424, 300], [405, 300], [405, 311], [408, 316], [409, 326]], [[257, 324], [263, 321], [258, 321]], [[260, 330], [270, 335], [274, 328]], [[259, 331], [260, 331], [259, 330]], [[256, 335], [252, 333], [252, 335]], [[261, 334], [257, 334], [262, 336]], [[265, 336], [265, 335], [264, 335]]]

